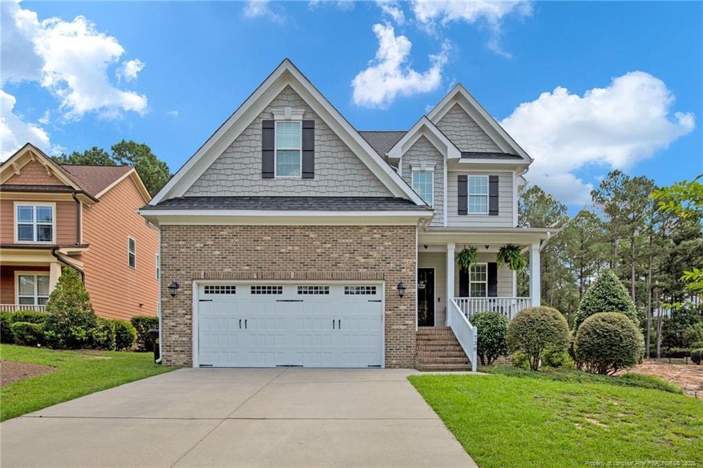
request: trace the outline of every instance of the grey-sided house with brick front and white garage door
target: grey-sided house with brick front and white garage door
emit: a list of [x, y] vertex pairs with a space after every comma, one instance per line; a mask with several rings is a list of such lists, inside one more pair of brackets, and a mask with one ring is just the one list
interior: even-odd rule
[[[550, 233], [517, 227], [530, 163], [460, 84], [409, 131], [357, 131], [284, 60], [141, 209], [161, 290], [179, 286], [164, 363], [475, 364], [473, 312], [539, 304]], [[531, 297], [496, 265], [508, 244], [529, 252]], [[460, 272], [464, 246], [479, 263]]]

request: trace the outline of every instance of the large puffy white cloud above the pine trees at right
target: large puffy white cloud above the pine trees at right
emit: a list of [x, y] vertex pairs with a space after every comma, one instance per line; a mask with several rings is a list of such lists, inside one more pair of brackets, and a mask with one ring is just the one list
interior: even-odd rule
[[626, 169], [695, 128], [692, 113], [671, 115], [674, 100], [661, 79], [629, 72], [583, 96], [558, 86], [520, 104], [501, 124], [534, 157], [530, 182], [583, 204], [593, 186], [575, 171], [594, 164]]

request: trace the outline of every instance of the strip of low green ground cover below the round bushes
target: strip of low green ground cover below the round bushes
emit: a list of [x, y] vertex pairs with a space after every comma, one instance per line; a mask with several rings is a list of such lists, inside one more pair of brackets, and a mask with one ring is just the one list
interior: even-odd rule
[[610, 375], [589, 374], [575, 369], [549, 369], [538, 372], [516, 368], [512, 365], [486, 365], [479, 367], [479, 372], [488, 374], [507, 375], [508, 377], [529, 377], [533, 379], [555, 380], [557, 382], [583, 382], [592, 384], [608, 384], [621, 386], [638, 386], [643, 389], [668, 391], [672, 394], [683, 394], [681, 387], [669, 380], [654, 375], [636, 374], [629, 372], [621, 377]]

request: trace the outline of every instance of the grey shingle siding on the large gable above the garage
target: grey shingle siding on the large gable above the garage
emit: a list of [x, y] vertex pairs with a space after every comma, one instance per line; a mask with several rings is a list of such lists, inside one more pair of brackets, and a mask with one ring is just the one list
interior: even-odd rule
[[[273, 119], [273, 109], [285, 107], [303, 109], [303, 118], [315, 121], [315, 178], [262, 178], [262, 120]], [[385, 197], [392, 194], [310, 106], [287, 86], [205, 170], [185, 195]]]

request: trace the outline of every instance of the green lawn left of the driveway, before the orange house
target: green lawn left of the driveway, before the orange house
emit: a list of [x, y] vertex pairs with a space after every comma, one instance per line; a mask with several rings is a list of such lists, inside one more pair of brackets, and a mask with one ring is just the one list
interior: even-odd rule
[[0, 421], [173, 370], [155, 364], [152, 353], [126, 351], [79, 353], [2, 344], [0, 358], [58, 368], [50, 374], [3, 386]]

